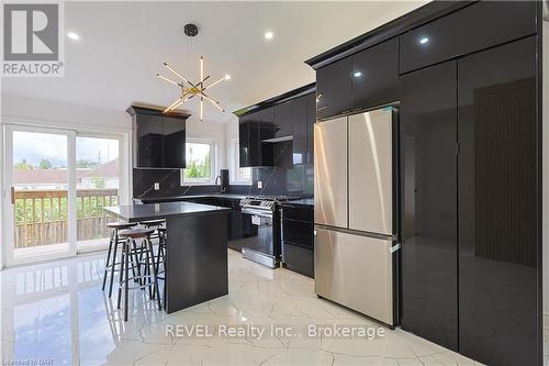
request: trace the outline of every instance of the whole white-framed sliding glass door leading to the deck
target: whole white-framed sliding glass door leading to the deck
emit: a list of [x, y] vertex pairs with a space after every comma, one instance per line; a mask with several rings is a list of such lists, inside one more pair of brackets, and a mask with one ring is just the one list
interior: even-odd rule
[[114, 218], [103, 208], [119, 204], [125, 181], [123, 135], [15, 125], [4, 132], [5, 264], [105, 248]]

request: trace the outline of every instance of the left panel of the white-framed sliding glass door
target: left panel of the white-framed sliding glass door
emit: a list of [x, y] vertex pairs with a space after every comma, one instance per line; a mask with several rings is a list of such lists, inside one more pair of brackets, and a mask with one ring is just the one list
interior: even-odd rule
[[75, 133], [7, 126], [7, 264], [76, 254]]

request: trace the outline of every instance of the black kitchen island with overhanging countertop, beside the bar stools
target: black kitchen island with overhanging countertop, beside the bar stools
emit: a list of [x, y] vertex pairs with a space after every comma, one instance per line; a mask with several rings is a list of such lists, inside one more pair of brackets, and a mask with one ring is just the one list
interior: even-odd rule
[[166, 302], [171, 313], [228, 293], [229, 209], [190, 202], [107, 207], [127, 222], [165, 219]]

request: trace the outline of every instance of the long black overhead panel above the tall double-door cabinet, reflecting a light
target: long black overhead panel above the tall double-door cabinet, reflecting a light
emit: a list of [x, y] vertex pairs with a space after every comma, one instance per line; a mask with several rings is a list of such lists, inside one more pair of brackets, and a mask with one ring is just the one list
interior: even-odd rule
[[480, 1], [401, 36], [407, 73], [536, 33], [537, 1]]

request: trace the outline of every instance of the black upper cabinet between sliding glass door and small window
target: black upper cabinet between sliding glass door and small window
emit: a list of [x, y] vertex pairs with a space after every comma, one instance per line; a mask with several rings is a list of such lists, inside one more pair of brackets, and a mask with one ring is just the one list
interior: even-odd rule
[[138, 168], [186, 167], [186, 120], [190, 114], [130, 107], [134, 123], [134, 166]]

